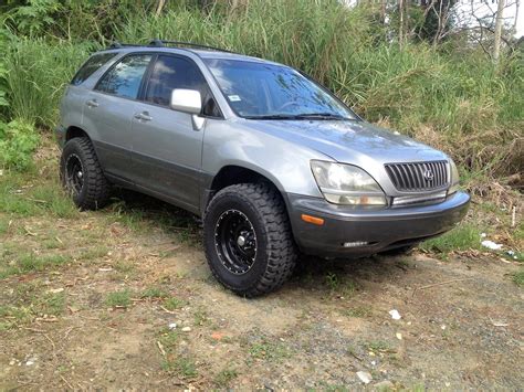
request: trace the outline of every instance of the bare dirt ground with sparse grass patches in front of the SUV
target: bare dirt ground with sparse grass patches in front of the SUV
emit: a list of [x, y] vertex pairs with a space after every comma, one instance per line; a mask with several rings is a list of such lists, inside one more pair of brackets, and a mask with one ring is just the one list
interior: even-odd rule
[[140, 203], [10, 221], [2, 259], [35, 267], [0, 279], [0, 390], [524, 386], [516, 262], [303, 258], [282, 289], [244, 299], [212, 278], [197, 223], [166, 226]]

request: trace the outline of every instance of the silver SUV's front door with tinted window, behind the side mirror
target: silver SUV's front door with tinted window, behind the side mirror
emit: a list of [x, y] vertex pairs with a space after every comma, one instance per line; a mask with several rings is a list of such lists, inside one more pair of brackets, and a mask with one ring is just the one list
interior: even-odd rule
[[137, 186], [197, 211], [205, 128], [196, 129], [190, 114], [169, 107], [174, 88], [198, 89], [205, 102], [210, 96], [203, 75], [190, 59], [176, 54], [157, 56], [143, 103], [133, 118], [134, 180]]

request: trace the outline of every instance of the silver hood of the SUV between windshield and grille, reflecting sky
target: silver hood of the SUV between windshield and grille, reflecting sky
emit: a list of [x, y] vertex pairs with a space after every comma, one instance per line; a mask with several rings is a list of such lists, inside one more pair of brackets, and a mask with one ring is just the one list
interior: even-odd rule
[[366, 121], [247, 120], [245, 125], [357, 166], [448, 159], [439, 150]]

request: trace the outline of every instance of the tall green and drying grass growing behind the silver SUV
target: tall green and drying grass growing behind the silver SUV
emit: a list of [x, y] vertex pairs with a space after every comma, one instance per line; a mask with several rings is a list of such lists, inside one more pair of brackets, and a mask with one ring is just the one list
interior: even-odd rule
[[[373, 8], [337, 0], [251, 0], [234, 12], [218, 4], [201, 10], [180, 2], [159, 17], [128, 7], [112, 32], [122, 42], [192, 41], [289, 64], [366, 119], [441, 148], [471, 170], [522, 170], [515, 142], [524, 128], [522, 59], [495, 70], [463, 47], [400, 49], [375, 23]], [[64, 84], [95, 46], [13, 41], [6, 56], [12, 117], [52, 126]]]

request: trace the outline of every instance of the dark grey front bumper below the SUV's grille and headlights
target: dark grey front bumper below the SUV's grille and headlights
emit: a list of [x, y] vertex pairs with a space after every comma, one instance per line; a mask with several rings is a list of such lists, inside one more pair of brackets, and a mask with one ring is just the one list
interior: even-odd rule
[[[442, 234], [462, 220], [469, 202], [468, 193], [457, 192], [438, 204], [357, 210], [319, 198], [286, 194], [298, 247], [304, 253], [326, 257], [366, 256]], [[304, 222], [302, 214], [322, 218], [324, 224]], [[367, 244], [344, 246], [353, 242]]]

